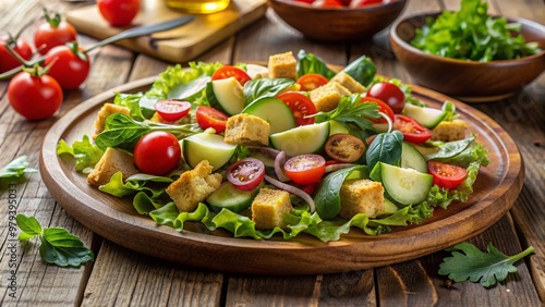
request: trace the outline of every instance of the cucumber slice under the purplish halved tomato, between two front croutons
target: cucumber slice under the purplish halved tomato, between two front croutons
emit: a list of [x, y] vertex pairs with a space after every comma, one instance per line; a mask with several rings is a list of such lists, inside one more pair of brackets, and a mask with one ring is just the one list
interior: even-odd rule
[[206, 202], [210, 205], [210, 209], [214, 212], [219, 212], [225, 208], [239, 213], [250, 208], [252, 200], [254, 200], [258, 192], [259, 187], [253, 191], [241, 191], [226, 181], [208, 195]]

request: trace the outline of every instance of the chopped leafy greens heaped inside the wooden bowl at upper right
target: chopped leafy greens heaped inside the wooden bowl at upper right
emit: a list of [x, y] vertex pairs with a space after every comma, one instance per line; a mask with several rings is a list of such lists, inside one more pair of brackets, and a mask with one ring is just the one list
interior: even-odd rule
[[462, 0], [459, 11], [426, 19], [411, 45], [439, 57], [480, 62], [520, 59], [541, 51], [536, 42], [525, 41], [519, 23], [489, 16], [487, 10], [487, 2]]

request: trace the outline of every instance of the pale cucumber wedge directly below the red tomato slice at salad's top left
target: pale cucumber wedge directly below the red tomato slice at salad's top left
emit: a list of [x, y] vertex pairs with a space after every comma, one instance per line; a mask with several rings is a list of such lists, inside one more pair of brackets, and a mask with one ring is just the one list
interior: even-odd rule
[[[211, 95], [210, 94], [211, 90]], [[210, 106], [218, 106], [229, 115], [239, 114], [244, 109], [244, 88], [234, 77], [211, 81], [207, 87]]]

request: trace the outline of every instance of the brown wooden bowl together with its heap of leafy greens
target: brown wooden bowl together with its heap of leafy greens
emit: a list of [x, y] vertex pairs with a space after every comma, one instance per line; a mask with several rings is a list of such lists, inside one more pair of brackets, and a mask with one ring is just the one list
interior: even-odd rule
[[416, 84], [467, 101], [506, 98], [545, 70], [545, 26], [489, 16], [487, 3], [398, 20], [390, 41]]

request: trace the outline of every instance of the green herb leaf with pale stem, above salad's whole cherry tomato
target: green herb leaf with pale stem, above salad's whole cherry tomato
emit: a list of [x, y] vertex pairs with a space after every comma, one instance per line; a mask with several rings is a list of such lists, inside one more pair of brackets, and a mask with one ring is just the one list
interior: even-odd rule
[[123, 113], [114, 113], [106, 119], [105, 131], [95, 139], [96, 145], [106, 150], [116, 147], [130, 150], [145, 134], [153, 131], [167, 131], [174, 134], [178, 139], [202, 132], [196, 124], [169, 125], [154, 122], [138, 122]]

